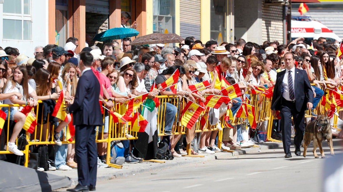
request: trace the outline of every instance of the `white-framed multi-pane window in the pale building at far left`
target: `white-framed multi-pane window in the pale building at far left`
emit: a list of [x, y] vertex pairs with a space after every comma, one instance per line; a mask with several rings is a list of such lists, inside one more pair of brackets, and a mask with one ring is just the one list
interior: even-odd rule
[[32, 40], [31, 1], [3, 0], [3, 39]]

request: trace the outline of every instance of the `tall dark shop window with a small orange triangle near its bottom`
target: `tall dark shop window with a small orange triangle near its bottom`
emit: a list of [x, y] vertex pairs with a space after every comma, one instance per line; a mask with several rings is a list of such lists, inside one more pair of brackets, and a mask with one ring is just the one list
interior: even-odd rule
[[211, 39], [218, 45], [226, 39], [226, 6], [227, 1], [211, 0]]

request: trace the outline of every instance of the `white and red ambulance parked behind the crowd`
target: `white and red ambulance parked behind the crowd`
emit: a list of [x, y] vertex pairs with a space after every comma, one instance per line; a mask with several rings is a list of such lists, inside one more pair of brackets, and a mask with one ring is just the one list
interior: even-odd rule
[[341, 42], [341, 38], [331, 29], [316, 20], [312, 20], [309, 16], [292, 16], [291, 37], [292, 40], [304, 37], [307, 44], [319, 37], [325, 37], [332, 42], [335, 40]]

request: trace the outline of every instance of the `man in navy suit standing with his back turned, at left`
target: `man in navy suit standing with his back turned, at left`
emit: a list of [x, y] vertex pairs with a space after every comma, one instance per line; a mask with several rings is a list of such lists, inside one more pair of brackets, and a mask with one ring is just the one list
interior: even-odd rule
[[92, 61], [93, 56], [90, 52], [80, 53], [81, 77], [76, 88], [74, 103], [66, 110], [73, 113], [79, 177], [79, 184], [67, 191], [95, 191], [97, 169], [95, 127], [103, 125], [103, 118], [99, 105], [100, 85], [91, 70]]

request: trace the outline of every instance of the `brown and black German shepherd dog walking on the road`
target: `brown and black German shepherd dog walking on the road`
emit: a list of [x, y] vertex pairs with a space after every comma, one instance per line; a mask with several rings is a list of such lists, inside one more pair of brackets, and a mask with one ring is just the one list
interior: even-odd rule
[[321, 158], [326, 158], [322, 147], [322, 141], [325, 141], [325, 139], [328, 141], [331, 155], [334, 156], [332, 146], [331, 125], [327, 113], [325, 113], [324, 115], [319, 115], [317, 119], [311, 121], [305, 127], [303, 156], [306, 157], [306, 149], [308, 145], [310, 145], [311, 141], [313, 141], [312, 152], [315, 155], [315, 158], [319, 158], [319, 156], [316, 153], [317, 146], [319, 147]]

